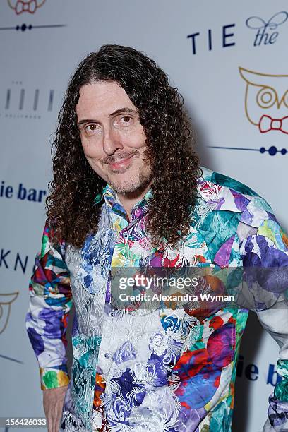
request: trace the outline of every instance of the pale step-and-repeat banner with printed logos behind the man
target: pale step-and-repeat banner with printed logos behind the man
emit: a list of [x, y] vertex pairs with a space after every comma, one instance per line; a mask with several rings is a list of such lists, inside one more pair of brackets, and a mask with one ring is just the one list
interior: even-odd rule
[[[288, 231], [287, 6], [284, 0], [1, 0], [0, 417], [44, 416], [24, 320], [52, 178], [53, 133], [77, 64], [107, 43], [155, 59], [184, 96], [201, 164], [248, 184]], [[280, 380], [277, 358], [277, 344], [251, 313], [233, 431], [261, 430]]]

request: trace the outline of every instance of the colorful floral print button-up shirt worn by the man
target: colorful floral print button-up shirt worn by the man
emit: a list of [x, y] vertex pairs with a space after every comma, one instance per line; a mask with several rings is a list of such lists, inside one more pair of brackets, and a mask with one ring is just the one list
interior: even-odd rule
[[[236, 360], [248, 309], [224, 307], [204, 318], [183, 308], [114, 310], [111, 269], [145, 263], [281, 267], [288, 264], [287, 236], [263, 198], [203, 168], [191, 229], [179, 250], [152, 248], [145, 229], [150, 198], [148, 191], [129, 220], [107, 185], [97, 233], [87, 236], [81, 249], [64, 243], [54, 248], [49, 227], [44, 227], [30, 280], [26, 328], [42, 390], [68, 384], [61, 430], [231, 431]], [[76, 315], [69, 379], [65, 348], [72, 301]], [[265, 432], [288, 427], [288, 308], [283, 293], [279, 304], [257, 312], [280, 346], [282, 381], [269, 397]]]

